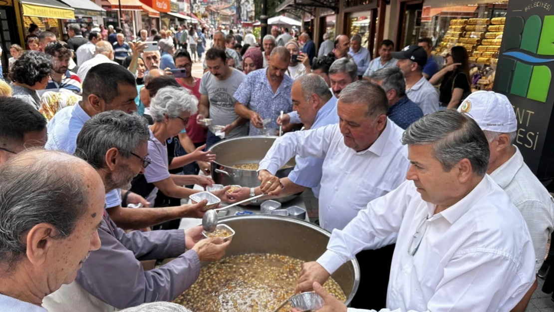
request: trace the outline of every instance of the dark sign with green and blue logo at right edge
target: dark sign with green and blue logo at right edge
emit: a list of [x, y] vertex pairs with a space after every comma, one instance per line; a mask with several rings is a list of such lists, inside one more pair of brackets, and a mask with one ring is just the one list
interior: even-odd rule
[[553, 3], [510, 1], [494, 81], [494, 90], [514, 106], [515, 144], [527, 166], [542, 179], [554, 177]]

